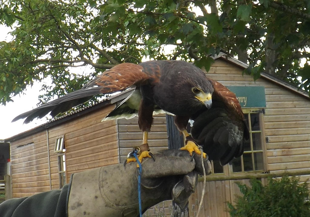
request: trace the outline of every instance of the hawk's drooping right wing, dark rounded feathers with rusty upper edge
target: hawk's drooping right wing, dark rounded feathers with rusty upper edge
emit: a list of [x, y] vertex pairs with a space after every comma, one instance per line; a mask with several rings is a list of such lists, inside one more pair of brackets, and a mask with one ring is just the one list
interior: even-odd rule
[[191, 134], [211, 160], [225, 165], [242, 155], [249, 130], [236, 95], [219, 82], [209, 80], [214, 88], [212, 108], [193, 117]]

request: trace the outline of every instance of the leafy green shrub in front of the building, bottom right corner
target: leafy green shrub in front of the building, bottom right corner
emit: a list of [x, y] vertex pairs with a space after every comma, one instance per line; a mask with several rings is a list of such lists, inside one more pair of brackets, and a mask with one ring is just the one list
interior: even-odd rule
[[237, 183], [243, 196], [237, 196], [235, 205], [228, 204], [231, 217], [309, 217], [309, 190], [299, 178], [283, 176], [268, 178], [263, 186], [260, 180], [251, 179], [251, 187]]

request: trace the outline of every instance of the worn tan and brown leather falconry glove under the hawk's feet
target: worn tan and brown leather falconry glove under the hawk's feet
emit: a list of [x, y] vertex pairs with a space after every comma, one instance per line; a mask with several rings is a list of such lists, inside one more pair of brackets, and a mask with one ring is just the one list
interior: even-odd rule
[[[173, 200], [174, 216], [186, 216], [188, 197], [197, 186], [197, 174], [203, 174], [200, 156], [188, 151], [162, 150], [155, 162], [142, 162], [142, 210], [164, 200]], [[139, 216], [138, 168], [131, 162], [104, 166], [73, 174], [68, 201], [68, 216]], [[204, 159], [206, 173], [210, 162]]]

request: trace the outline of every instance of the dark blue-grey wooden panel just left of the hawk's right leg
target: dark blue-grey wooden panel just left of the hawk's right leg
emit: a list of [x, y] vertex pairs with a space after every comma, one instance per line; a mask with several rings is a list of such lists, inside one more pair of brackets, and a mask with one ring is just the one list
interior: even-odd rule
[[174, 124], [174, 117], [166, 114], [167, 122], [167, 134], [168, 134], [168, 148], [179, 149], [184, 146], [183, 135], [180, 134], [179, 130]]

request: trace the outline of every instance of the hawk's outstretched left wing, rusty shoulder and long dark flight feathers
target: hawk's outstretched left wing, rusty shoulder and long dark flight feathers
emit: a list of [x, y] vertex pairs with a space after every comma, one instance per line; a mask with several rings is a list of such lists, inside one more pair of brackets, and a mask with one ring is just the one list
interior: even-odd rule
[[144, 67], [132, 63], [122, 63], [106, 70], [104, 73], [87, 83], [82, 89], [73, 91], [56, 100], [48, 102], [34, 108], [31, 111], [20, 114], [12, 121], [25, 118], [24, 123], [31, 122], [34, 118], [42, 118], [51, 112], [51, 116], [55, 117], [59, 113], [68, 111], [92, 98], [94, 95], [114, 93], [123, 91], [131, 86], [139, 86], [159, 80], [160, 71], [146, 65]]

